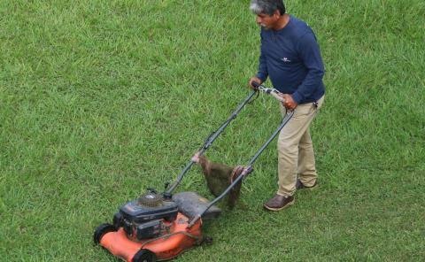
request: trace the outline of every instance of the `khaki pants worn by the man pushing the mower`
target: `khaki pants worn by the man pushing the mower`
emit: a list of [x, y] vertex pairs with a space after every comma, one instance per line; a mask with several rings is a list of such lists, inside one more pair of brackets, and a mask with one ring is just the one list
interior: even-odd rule
[[[318, 106], [313, 103], [298, 104], [292, 119], [282, 128], [277, 141], [279, 155], [279, 189], [277, 194], [292, 196], [295, 193], [297, 175], [306, 186], [313, 186], [317, 179], [313, 143], [309, 127], [323, 104], [325, 96], [319, 99]], [[281, 104], [282, 116], [286, 114]]]

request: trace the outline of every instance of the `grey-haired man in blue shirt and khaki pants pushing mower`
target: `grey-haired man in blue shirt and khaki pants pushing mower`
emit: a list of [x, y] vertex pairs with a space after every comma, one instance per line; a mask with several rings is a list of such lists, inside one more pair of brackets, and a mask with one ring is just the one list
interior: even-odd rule
[[250, 9], [261, 27], [261, 54], [259, 72], [249, 85], [269, 77], [285, 99], [282, 115], [294, 111], [277, 143], [279, 189], [264, 204], [268, 210], [279, 211], [294, 203], [296, 189], [312, 189], [317, 184], [309, 126], [323, 103], [325, 70], [313, 30], [287, 14], [282, 0], [251, 0]]

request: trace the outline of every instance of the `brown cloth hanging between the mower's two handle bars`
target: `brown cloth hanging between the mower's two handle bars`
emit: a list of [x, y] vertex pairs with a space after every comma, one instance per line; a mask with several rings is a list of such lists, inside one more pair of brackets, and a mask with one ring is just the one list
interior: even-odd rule
[[[236, 180], [236, 178], [243, 172], [243, 166], [226, 166], [219, 163], [209, 161], [205, 156], [200, 156], [198, 153], [192, 158], [202, 167], [206, 185], [214, 196], [220, 196], [228, 186]], [[239, 181], [233, 189], [228, 192], [228, 208], [233, 209], [236, 200], [239, 198], [241, 192], [242, 181]]]

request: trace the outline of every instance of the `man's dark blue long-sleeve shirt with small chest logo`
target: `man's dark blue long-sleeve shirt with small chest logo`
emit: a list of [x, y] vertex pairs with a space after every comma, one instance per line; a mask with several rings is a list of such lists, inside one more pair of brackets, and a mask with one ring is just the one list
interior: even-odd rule
[[257, 77], [270, 77], [274, 88], [291, 94], [298, 104], [317, 101], [325, 94], [325, 68], [316, 36], [304, 21], [290, 16], [280, 30], [261, 28], [261, 55]]

